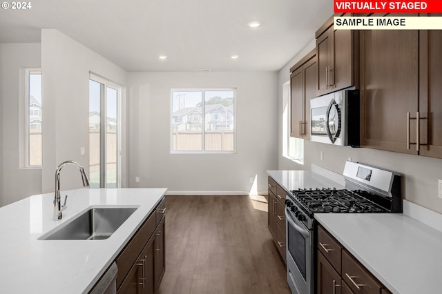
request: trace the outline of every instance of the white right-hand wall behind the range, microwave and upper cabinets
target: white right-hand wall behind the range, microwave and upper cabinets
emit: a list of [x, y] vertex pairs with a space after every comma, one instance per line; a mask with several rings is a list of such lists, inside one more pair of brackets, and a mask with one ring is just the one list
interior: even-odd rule
[[[278, 111], [282, 117], [282, 84], [289, 80], [289, 68], [315, 47], [314, 40], [279, 72]], [[281, 123], [279, 123], [281, 124]], [[281, 128], [281, 127], [280, 127]], [[369, 148], [351, 148], [333, 146], [305, 140], [304, 166], [282, 157], [282, 135], [278, 137], [278, 168], [281, 170], [302, 170], [311, 168], [311, 164], [321, 166], [334, 173], [342, 174], [345, 161], [353, 161], [388, 168], [403, 174], [403, 198], [411, 202], [442, 213], [442, 199], [438, 197], [437, 179], [442, 179], [442, 159], [405, 155]], [[320, 160], [320, 151], [324, 160]]]

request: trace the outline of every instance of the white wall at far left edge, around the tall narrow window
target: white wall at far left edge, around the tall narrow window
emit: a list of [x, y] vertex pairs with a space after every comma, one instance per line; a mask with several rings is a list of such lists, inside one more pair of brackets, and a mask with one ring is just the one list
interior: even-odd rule
[[32, 67], [40, 67], [39, 43], [0, 43], [0, 206], [41, 193], [41, 170], [19, 166], [24, 68]]

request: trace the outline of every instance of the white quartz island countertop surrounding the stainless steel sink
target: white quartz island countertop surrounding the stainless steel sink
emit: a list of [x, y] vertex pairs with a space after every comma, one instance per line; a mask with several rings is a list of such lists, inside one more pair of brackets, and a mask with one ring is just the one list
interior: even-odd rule
[[[0, 293], [87, 293], [151, 214], [166, 188], [78, 189], [63, 219], [52, 220], [54, 194], [34, 195], [0, 208]], [[39, 240], [89, 206], [137, 210], [102, 240]]]

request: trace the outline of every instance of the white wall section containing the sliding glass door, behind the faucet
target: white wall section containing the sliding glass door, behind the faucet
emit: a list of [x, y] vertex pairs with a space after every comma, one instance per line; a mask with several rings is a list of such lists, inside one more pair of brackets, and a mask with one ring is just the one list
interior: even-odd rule
[[[126, 85], [127, 72], [58, 30], [48, 29], [41, 31], [41, 69], [42, 189], [48, 193], [55, 188], [55, 169], [62, 161], [78, 161], [88, 170], [89, 72], [122, 86]], [[80, 156], [81, 147], [86, 148], [85, 156]], [[81, 187], [76, 169], [74, 166], [64, 168], [61, 189]]]

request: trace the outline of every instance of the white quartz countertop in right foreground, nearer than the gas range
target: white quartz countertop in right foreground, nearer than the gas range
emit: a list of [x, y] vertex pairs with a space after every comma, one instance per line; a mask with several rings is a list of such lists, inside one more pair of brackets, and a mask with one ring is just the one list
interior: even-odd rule
[[317, 213], [315, 219], [392, 293], [441, 293], [441, 231], [393, 213]]

